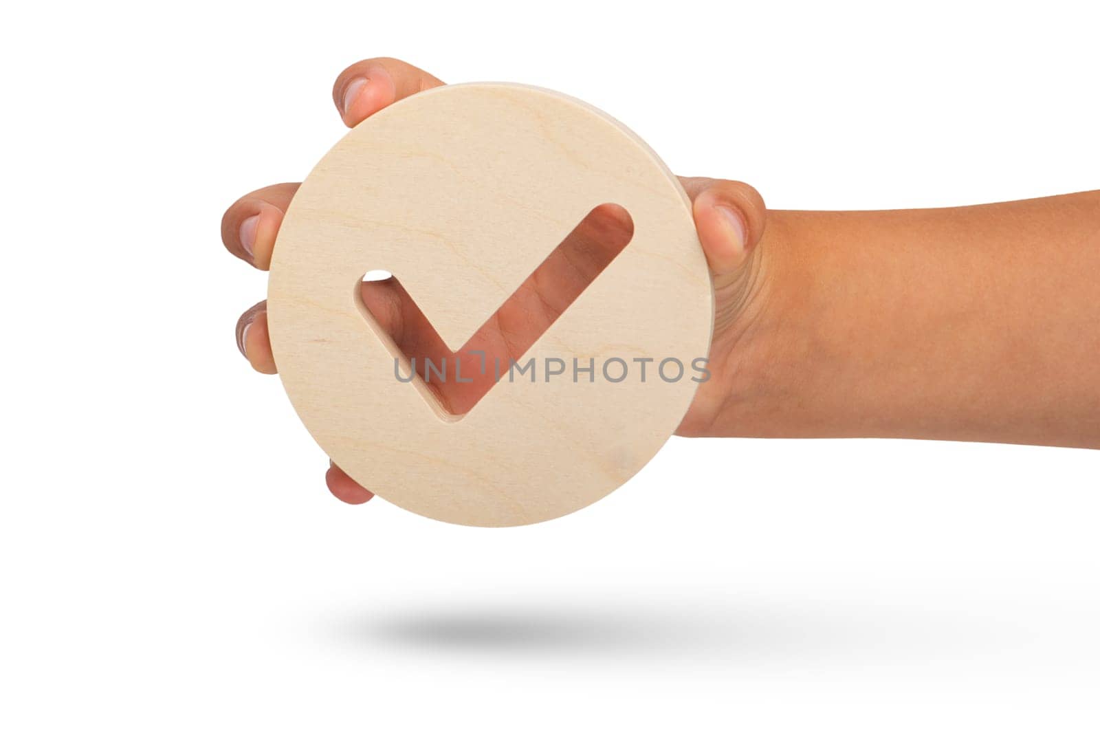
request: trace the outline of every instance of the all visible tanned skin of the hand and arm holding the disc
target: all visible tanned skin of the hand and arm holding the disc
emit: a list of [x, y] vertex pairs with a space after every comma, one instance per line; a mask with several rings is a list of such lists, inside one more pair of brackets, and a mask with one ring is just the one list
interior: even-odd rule
[[[442, 81], [363, 61], [332, 98], [354, 127]], [[1100, 192], [949, 209], [768, 211], [751, 186], [681, 178], [715, 289], [708, 368], [684, 436], [891, 437], [1100, 448]], [[267, 270], [298, 184], [241, 197], [227, 249]], [[459, 350], [518, 358], [629, 240], [629, 216], [582, 221]], [[394, 278], [363, 300], [408, 355], [452, 357]], [[252, 366], [274, 374], [266, 304], [238, 321]], [[466, 363], [469, 361], [469, 363]], [[448, 382], [452, 413], [492, 385]], [[330, 491], [373, 496], [338, 467]]]

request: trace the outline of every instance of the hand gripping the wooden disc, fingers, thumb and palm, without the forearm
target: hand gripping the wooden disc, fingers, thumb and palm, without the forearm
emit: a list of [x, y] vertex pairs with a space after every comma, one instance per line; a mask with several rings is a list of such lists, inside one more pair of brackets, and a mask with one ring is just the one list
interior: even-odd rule
[[[344, 124], [354, 127], [395, 101], [442, 84], [404, 62], [374, 58], [341, 73], [332, 98]], [[746, 348], [746, 337], [756, 330], [751, 327], [755, 314], [767, 300], [760, 295], [767, 267], [756, 247], [763, 233], [766, 211], [760, 195], [747, 184], [713, 178], [681, 178], [681, 183], [692, 199], [695, 227], [714, 281], [715, 331], [708, 362], [711, 379], [700, 385], [678, 433], [705, 435], [736, 390], [739, 370], [734, 347], [738, 352]], [[238, 199], [222, 218], [226, 248], [254, 267], [267, 270], [283, 215], [298, 185], [276, 184]], [[477, 359], [469, 352], [479, 349], [490, 359], [499, 355], [505, 363], [508, 358], [518, 359], [623, 249], [631, 233], [630, 218], [620, 207], [603, 205], [594, 209], [460, 350], [460, 359]], [[451, 355], [395, 278], [364, 282], [362, 287], [363, 303], [402, 351], [437, 363], [439, 357]], [[237, 343], [253, 369], [276, 373], [266, 302], [240, 317]], [[464, 364], [463, 373], [477, 371], [473, 364]], [[461, 414], [487, 392], [492, 376], [475, 378], [469, 384], [431, 386], [449, 411]], [[374, 495], [336, 466], [326, 474], [326, 483], [337, 497], [351, 504], [361, 504]]]

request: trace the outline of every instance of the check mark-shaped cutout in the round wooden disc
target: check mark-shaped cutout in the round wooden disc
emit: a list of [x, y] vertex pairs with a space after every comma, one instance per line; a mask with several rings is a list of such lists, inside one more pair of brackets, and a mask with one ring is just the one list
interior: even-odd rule
[[441, 419], [459, 420], [496, 384], [497, 374], [508, 379], [510, 361], [519, 362], [632, 236], [626, 209], [597, 206], [458, 351], [448, 349], [388, 273], [364, 278], [358, 291], [360, 311], [397, 360], [395, 380], [410, 382]]

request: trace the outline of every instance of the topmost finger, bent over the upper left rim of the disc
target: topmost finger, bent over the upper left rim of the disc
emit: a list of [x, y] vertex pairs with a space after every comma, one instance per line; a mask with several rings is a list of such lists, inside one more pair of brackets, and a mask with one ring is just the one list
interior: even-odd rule
[[344, 124], [353, 128], [395, 101], [441, 86], [431, 74], [403, 61], [369, 58], [340, 73], [332, 85], [332, 101]]

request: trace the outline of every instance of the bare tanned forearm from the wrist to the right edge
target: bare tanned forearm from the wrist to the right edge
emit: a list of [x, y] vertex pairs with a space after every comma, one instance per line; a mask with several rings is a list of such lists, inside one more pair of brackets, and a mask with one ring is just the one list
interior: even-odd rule
[[1100, 447], [1100, 192], [774, 211], [758, 256], [711, 434]]

